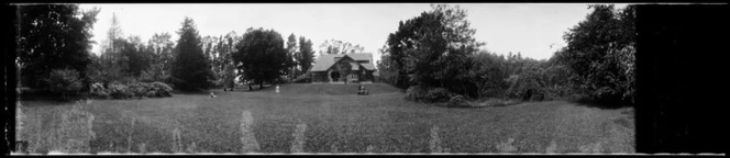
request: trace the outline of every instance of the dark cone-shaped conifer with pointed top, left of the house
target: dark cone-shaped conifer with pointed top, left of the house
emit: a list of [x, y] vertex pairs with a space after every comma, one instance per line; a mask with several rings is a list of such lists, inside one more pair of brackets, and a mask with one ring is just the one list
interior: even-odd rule
[[206, 58], [198, 30], [190, 18], [182, 21], [182, 27], [177, 32], [180, 38], [175, 45], [175, 61], [173, 64], [172, 77], [178, 79], [175, 88], [185, 91], [198, 91], [207, 89], [212, 83], [213, 72]]

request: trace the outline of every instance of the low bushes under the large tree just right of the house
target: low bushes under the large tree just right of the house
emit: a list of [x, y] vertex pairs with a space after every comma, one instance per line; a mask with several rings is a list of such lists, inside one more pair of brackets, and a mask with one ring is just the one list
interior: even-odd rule
[[406, 99], [423, 102], [446, 102], [454, 93], [444, 88], [429, 88], [423, 86], [411, 86], [406, 90]]

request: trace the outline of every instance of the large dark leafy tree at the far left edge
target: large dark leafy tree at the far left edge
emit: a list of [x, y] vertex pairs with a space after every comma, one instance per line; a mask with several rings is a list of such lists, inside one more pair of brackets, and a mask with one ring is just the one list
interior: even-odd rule
[[65, 68], [78, 71], [86, 82], [91, 27], [99, 11], [81, 12], [76, 4], [18, 5], [13, 23], [23, 86], [46, 88], [44, 77]]

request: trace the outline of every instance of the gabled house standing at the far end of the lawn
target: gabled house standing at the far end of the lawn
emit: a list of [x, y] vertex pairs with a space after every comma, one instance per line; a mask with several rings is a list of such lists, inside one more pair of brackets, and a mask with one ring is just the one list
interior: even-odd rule
[[312, 82], [372, 82], [373, 54], [321, 55], [310, 71]]

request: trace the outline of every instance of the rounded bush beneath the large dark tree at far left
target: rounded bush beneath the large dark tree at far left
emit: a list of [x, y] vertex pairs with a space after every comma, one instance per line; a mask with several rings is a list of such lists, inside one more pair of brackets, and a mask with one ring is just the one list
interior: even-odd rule
[[62, 93], [64, 99], [67, 94], [77, 94], [84, 87], [79, 72], [74, 69], [55, 69], [46, 78], [46, 84], [51, 92]]

